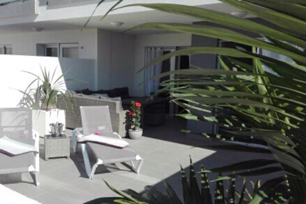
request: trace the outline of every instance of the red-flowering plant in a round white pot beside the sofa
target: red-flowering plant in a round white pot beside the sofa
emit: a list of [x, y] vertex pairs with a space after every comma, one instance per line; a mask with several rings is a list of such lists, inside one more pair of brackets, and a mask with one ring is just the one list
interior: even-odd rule
[[140, 139], [142, 136], [142, 129], [140, 128], [140, 102], [131, 102], [131, 111], [129, 112], [130, 117], [130, 128], [129, 128], [129, 136], [132, 139]]

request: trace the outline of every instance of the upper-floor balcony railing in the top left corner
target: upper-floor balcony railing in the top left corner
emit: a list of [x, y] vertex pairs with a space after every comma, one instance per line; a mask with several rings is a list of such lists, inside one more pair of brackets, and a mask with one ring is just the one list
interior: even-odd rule
[[0, 18], [39, 13], [38, 0], [0, 0]]

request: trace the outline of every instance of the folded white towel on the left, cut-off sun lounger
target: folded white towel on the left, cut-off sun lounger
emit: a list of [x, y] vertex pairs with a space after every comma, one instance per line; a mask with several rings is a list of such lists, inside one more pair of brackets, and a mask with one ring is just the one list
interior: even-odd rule
[[0, 152], [11, 157], [29, 152], [38, 153], [34, 146], [9, 139], [7, 136], [0, 139]]

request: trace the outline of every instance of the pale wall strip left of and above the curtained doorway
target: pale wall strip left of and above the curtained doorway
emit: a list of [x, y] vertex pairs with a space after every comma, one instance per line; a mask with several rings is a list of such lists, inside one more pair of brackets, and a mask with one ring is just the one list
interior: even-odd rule
[[135, 43], [135, 70], [133, 96], [144, 95], [144, 72], [138, 72], [144, 66], [144, 49], [150, 46], [191, 46], [191, 34], [138, 35]]

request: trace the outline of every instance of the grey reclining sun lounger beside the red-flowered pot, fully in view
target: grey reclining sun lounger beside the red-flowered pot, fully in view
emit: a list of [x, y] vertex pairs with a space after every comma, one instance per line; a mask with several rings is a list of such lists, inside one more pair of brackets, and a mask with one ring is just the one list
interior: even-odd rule
[[[123, 149], [110, 147], [94, 142], [77, 143], [77, 138], [84, 135], [91, 135], [98, 133], [103, 137], [107, 135], [109, 137], [121, 138], [117, 133], [113, 132], [112, 124], [110, 120], [110, 113], [108, 106], [81, 106], [80, 112], [82, 116], [82, 127], [76, 128], [73, 131], [73, 150], [78, 151], [78, 146], [81, 147], [81, 151], [84, 158], [85, 169], [88, 177], [93, 178], [95, 169], [98, 165], [102, 164], [114, 164], [122, 162], [131, 162], [132, 169], [139, 173], [143, 164], [143, 159], [131, 148], [125, 147]], [[90, 165], [88, 150], [90, 149], [96, 159], [96, 163]], [[135, 164], [134, 164], [135, 162]]]

